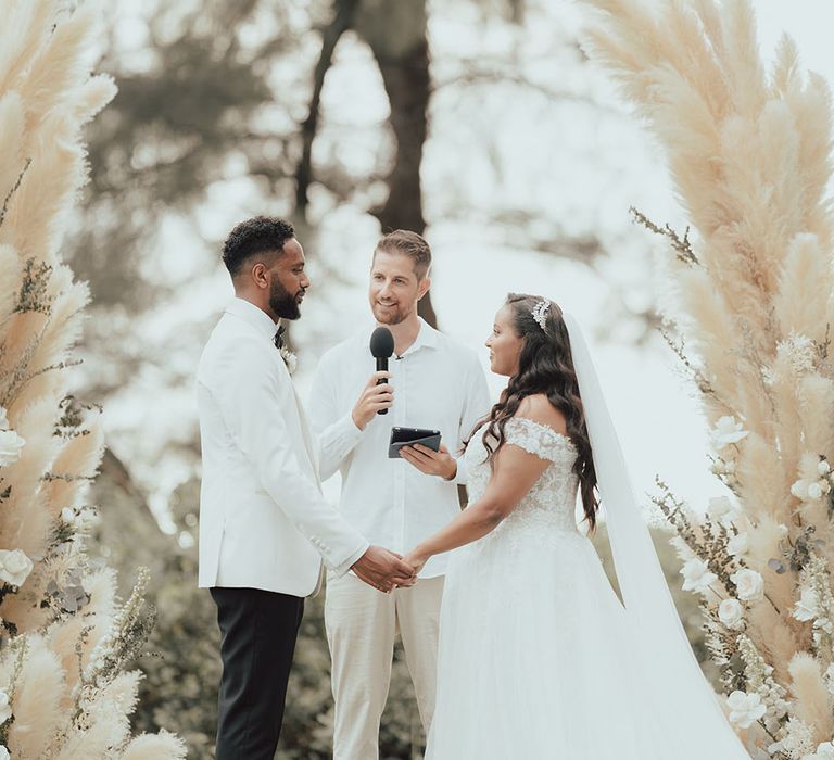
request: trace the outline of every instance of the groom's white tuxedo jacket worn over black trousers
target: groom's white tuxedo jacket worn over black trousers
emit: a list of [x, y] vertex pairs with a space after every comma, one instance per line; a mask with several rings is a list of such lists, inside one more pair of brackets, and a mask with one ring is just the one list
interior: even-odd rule
[[368, 542], [321, 495], [317, 446], [276, 329], [235, 299], [200, 358], [199, 583], [308, 596], [323, 559], [346, 572]]

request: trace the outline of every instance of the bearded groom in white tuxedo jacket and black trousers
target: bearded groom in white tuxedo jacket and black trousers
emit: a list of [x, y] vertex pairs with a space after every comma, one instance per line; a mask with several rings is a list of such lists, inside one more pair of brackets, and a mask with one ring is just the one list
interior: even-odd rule
[[292, 226], [239, 224], [223, 261], [236, 297], [197, 373], [203, 482], [200, 579], [220, 628], [216, 760], [271, 760], [304, 597], [321, 560], [380, 591], [413, 585], [410, 567], [369, 546], [324, 499], [316, 445], [279, 351], [309, 280]]

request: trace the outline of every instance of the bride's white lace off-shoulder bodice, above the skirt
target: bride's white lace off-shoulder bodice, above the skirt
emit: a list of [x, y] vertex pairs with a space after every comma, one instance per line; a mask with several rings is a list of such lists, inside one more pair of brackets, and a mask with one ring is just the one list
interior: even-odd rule
[[[483, 494], [492, 474], [489, 461], [484, 461], [484, 434], [485, 427], [484, 433], [471, 441], [465, 454], [469, 469], [470, 503]], [[540, 540], [546, 540], [554, 531], [579, 533], [574, 514], [579, 481], [571, 471], [577, 449], [570, 439], [526, 417], [508, 420], [504, 435], [505, 445], [520, 446], [552, 464], [521, 503], [485, 539], [497, 539], [508, 532], [516, 537], [525, 534]]]

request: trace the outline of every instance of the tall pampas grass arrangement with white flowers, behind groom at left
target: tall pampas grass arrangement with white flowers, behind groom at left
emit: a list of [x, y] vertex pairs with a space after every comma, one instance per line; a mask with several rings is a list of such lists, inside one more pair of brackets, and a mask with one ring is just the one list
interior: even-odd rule
[[[86, 180], [81, 127], [113, 97], [91, 76], [96, 9], [4, 0], [0, 28], [0, 691], [15, 760], [185, 756], [169, 734], [131, 740], [140, 673], [125, 672], [153, 616], [147, 573], [127, 603], [93, 569], [85, 504], [103, 452], [98, 414], [68, 395], [85, 283], [60, 256]], [[18, 445], [20, 444], [20, 445]], [[11, 559], [8, 557], [11, 556]]]

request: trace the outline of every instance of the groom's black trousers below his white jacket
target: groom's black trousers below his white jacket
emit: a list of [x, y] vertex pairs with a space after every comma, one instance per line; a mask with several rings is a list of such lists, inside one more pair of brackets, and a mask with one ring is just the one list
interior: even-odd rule
[[273, 760], [304, 599], [260, 588], [212, 588], [220, 626], [216, 760]]

